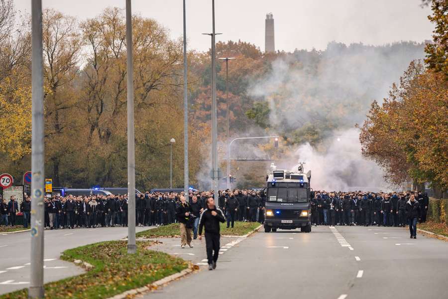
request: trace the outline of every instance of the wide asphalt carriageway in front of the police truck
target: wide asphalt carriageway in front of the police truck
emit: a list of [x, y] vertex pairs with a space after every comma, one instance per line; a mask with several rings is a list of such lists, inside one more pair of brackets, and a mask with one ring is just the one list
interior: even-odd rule
[[230, 246], [216, 270], [203, 267], [144, 298], [448, 298], [448, 242], [417, 237], [389, 227], [260, 230]]

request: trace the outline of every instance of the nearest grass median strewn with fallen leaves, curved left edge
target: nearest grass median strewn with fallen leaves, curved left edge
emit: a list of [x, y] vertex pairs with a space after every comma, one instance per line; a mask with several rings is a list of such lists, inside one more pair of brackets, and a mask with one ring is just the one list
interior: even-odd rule
[[[79, 276], [45, 284], [45, 298], [109, 298], [149, 285], [188, 268], [188, 263], [166, 253], [147, 249], [153, 242], [137, 242], [137, 253], [127, 254], [126, 241], [81, 246], [63, 252], [61, 259], [82, 260], [93, 266]], [[27, 299], [27, 289], [0, 296], [0, 299]]]

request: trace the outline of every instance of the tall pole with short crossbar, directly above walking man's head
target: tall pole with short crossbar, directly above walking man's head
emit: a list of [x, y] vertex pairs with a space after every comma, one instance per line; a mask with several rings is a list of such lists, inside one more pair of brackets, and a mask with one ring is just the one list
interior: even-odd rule
[[213, 168], [213, 190], [215, 200], [218, 200], [218, 124], [216, 103], [216, 49], [215, 49], [215, 0], [212, 0], [212, 168]]

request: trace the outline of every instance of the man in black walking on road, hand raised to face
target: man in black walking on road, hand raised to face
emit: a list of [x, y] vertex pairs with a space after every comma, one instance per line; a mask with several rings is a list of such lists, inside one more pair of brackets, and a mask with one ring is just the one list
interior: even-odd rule
[[224, 223], [225, 217], [212, 197], [207, 199], [206, 206], [199, 219], [199, 240], [202, 240], [202, 229], [205, 228], [207, 260], [209, 270], [213, 270], [216, 269], [220, 252], [220, 222]]

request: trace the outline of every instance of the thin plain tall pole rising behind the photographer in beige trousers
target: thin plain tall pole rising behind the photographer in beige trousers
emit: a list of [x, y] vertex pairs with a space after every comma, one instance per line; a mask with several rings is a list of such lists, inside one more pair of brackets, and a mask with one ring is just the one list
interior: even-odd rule
[[184, 193], [188, 199], [189, 168], [188, 168], [188, 91], [187, 91], [187, 25], [184, 0]]

